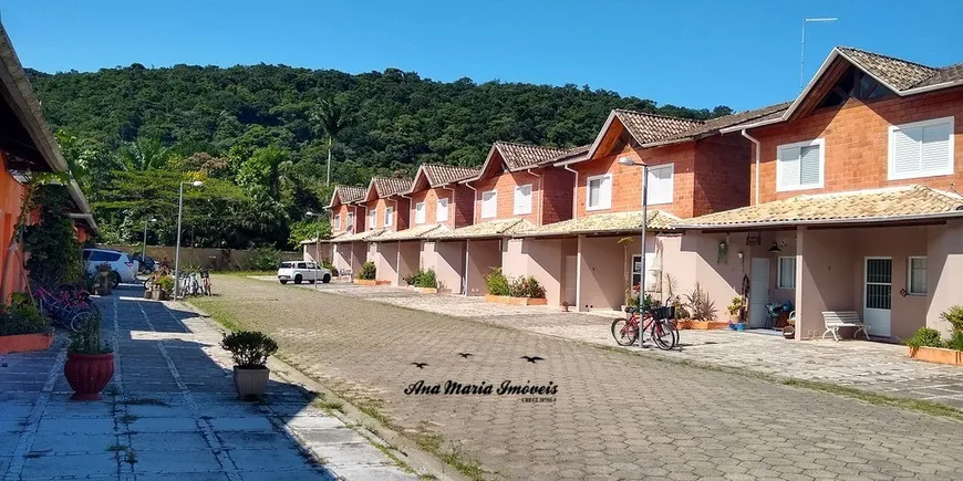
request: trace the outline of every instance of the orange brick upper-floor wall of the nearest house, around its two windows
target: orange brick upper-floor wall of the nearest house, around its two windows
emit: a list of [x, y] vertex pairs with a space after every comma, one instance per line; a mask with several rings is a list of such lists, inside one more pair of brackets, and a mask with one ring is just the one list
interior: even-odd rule
[[[941, 117], [954, 117], [954, 174], [889, 180], [889, 127]], [[785, 199], [801, 194], [839, 192], [888, 186], [921, 184], [950, 189], [963, 187], [963, 88], [938, 91], [910, 97], [862, 103], [849, 100], [842, 107], [818, 109], [800, 118], [753, 129], [760, 146], [759, 201]], [[821, 189], [776, 191], [777, 147], [797, 142], [824, 139], [825, 165]], [[750, 167], [755, 182], [755, 166]], [[752, 189], [755, 194], [755, 189]]]

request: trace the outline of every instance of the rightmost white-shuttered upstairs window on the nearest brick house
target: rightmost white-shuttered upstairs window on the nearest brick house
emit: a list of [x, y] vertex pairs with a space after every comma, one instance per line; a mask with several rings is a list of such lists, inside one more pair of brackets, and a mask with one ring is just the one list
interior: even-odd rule
[[950, 174], [953, 174], [953, 117], [890, 126], [890, 180]]

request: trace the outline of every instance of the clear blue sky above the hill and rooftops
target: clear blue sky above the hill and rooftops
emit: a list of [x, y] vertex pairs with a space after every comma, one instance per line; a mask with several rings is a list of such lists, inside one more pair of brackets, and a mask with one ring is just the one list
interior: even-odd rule
[[351, 73], [588, 84], [660, 104], [753, 108], [799, 91], [842, 44], [963, 62], [963, 2], [943, 1], [0, 1], [25, 66], [44, 72], [272, 63]]

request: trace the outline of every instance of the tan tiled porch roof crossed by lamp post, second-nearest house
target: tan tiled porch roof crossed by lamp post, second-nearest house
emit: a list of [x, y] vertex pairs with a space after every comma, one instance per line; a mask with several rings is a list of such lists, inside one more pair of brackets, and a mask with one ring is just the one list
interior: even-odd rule
[[[649, 210], [649, 229], [657, 231], [672, 230], [680, 219], [669, 212], [652, 209]], [[541, 227], [528, 229], [517, 237], [548, 237], [568, 236], [579, 233], [618, 233], [636, 232], [642, 230], [642, 211], [596, 213], [578, 219], [563, 220], [561, 222], [547, 223]]]

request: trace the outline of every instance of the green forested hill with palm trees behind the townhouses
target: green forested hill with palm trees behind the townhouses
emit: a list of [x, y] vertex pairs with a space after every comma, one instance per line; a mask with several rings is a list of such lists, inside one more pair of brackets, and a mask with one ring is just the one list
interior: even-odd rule
[[[29, 75], [48, 121], [74, 137], [61, 136], [74, 144], [65, 150], [83, 157], [94, 174], [87, 187], [108, 236], [136, 238], [135, 224], [147, 210], [167, 213], [149, 198], [121, 192], [143, 180], [138, 172], [163, 170], [154, 177], [167, 178], [201, 170], [231, 191], [220, 218], [232, 221], [219, 231], [198, 227], [195, 242], [235, 247], [281, 245], [304, 209], [327, 202], [328, 144], [318, 115], [324, 101], [353, 119], [335, 137], [332, 182], [359, 185], [375, 174], [414, 172], [425, 161], [478, 165], [495, 140], [590, 143], [612, 108], [697, 118], [729, 113], [657, 106], [574, 85], [442, 83], [395, 69], [352, 75], [263, 64], [134, 64]], [[266, 211], [258, 202], [275, 202], [269, 211], [276, 216], [247, 218]]]

